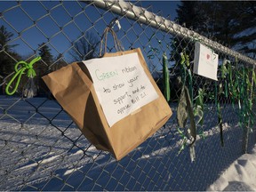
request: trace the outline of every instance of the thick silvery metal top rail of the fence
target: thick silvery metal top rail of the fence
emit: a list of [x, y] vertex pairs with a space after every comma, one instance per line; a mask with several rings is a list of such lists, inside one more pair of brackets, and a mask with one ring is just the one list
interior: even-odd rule
[[256, 60], [252, 60], [251, 58], [244, 56], [239, 52], [231, 50], [228, 47], [214, 42], [205, 36], [199, 35], [193, 30], [184, 28], [172, 20], [167, 20], [153, 12], [148, 12], [145, 8], [136, 6], [129, 2], [125, 2], [124, 0], [93, 0], [90, 2], [87, 1], [87, 3], [94, 4], [95, 6], [102, 9], [108, 9], [111, 12], [115, 12], [116, 14], [122, 16], [125, 15], [129, 19], [138, 20], [140, 23], [150, 25], [153, 28], [160, 28], [167, 33], [189, 38], [193, 41], [200, 41], [202, 44], [205, 44], [216, 51], [223, 52], [232, 57], [236, 57], [238, 60], [243, 60], [248, 64], [256, 65]]

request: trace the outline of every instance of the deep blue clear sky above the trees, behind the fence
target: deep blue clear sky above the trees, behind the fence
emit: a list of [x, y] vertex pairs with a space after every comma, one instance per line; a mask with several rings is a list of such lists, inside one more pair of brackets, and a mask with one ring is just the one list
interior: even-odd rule
[[[152, 5], [148, 11], [160, 10], [161, 16], [166, 18], [171, 15], [171, 20], [174, 20], [175, 9], [180, 2], [134, 1], [134, 4], [141, 4], [144, 8]], [[38, 44], [46, 42], [55, 57], [63, 54], [67, 60], [70, 57], [68, 48], [79, 36], [83, 36], [83, 32], [88, 31], [100, 39], [104, 28], [117, 16], [76, 1], [21, 1], [20, 4], [15, 1], [1, 1], [0, 12], [0, 26], [4, 25], [14, 34], [11, 44], [19, 44], [14, 48], [15, 52], [26, 58], [38, 53]], [[152, 36], [154, 29], [144, 30], [138, 23], [125, 18], [121, 18], [120, 23], [122, 30], [117, 32], [117, 36], [125, 49], [140, 47], [141, 44], [148, 46], [148, 38]], [[152, 40], [151, 44], [156, 44], [156, 40], [157, 38]]]

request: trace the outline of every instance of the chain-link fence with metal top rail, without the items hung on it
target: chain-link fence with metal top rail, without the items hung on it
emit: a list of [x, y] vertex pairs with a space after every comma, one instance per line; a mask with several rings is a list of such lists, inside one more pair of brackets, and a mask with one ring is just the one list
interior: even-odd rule
[[[121, 161], [84, 138], [41, 80], [75, 60], [99, 57], [103, 30], [116, 18], [121, 28], [113, 27], [124, 49], [140, 47], [162, 91], [162, 57], [166, 54], [173, 112], [164, 127]], [[148, 12], [140, 1], [4, 1], [0, 2], [0, 26], [2, 190], [205, 190], [256, 142], [255, 116], [251, 116], [256, 61]], [[184, 141], [189, 124], [179, 129], [176, 120], [177, 78], [184, 76], [181, 52], [188, 55], [190, 66], [186, 68], [192, 70], [196, 41], [219, 54], [220, 66], [218, 82], [192, 74], [193, 103], [196, 107], [201, 92], [204, 124], [197, 124], [196, 161], [191, 162]], [[115, 52], [113, 42], [108, 43], [108, 52]], [[14, 65], [37, 55], [42, 57], [36, 64], [37, 96], [23, 98], [25, 76], [14, 96], [5, 95]], [[224, 59], [230, 61], [233, 82], [227, 71], [223, 75]], [[232, 91], [232, 84], [238, 93]]]

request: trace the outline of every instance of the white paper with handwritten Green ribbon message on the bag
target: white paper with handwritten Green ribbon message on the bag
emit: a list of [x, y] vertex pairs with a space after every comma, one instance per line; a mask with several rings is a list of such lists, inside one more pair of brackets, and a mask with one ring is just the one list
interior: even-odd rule
[[110, 127], [158, 98], [136, 52], [83, 62]]

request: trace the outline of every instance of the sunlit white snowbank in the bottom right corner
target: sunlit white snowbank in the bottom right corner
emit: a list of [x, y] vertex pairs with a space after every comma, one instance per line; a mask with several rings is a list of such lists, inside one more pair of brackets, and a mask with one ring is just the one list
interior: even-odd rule
[[240, 156], [208, 191], [256, 191], [256, 145], [251, 154]]

